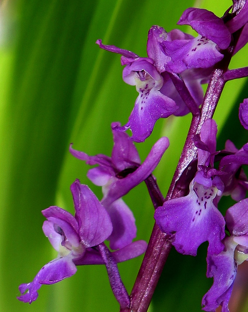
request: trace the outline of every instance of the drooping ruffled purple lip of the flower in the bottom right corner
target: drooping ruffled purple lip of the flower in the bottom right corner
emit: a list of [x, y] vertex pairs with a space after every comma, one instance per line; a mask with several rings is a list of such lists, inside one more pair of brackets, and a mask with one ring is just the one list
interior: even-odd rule
[[207, 276], [213, 277], [213, 286], [202, 299], [202, 305], [205, 306], [202, 310], [212, 312], [222, 305], [221, 311], [229, 312], [228, 302], [237, 273], [237, 264], [233, 258], [236, 245], [229, 237], [225, 240], [226, 251], [207, 257]]

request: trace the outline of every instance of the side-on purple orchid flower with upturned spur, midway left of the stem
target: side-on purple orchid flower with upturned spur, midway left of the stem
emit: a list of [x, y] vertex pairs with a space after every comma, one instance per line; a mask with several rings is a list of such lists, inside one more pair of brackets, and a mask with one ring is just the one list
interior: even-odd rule
[[[112, 128], [116, 125], [119, 123], [113, 123]], [[113, 224], [113, 232], [108, 239], [110, 247], [118, 249], [130, 244], [136, 237], [134, 216], [121, 197], [151, 175], [168, 148], [169, 140], [167, 137], [160, 138], [141, 164], [138, 151], [128, 135], [115, 130], [112, 133], [114, 146], [111, 157], [102, 154], [88, 156], [71, 146], [70, 152], [89, 165], [99, 165], [89, 169], [87, 176], [94, 184], [103, 187], [101, 203]]]

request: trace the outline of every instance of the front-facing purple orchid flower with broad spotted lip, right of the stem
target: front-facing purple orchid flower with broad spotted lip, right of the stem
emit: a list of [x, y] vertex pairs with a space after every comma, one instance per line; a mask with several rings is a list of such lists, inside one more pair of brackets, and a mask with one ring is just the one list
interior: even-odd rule
[[225, 220], [214, 204], [215, 197], [223, 192], [223, 183], [212, 168], [216, 132], [215, 121], [207, 119], [196, 143], [198, 171], [189, 194], [165, 201], [155, 211], [159, 228], [172, 235], [172, 244], [181, 254], [196, 255], [205, 241], [209, 242], [209, 254], [219, 254], [224, 248], [221, 240], [225, 237]]

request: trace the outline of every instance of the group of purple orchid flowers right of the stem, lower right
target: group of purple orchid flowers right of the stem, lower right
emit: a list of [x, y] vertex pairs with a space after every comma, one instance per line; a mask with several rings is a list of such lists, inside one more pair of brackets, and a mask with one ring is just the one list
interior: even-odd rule
[[[248, 144], [237, 150], [228, 141], [225, 150], [216, 152], [216, 134], [215, 121], [207, 119], [200, 135], [194, 138], [198, 166], [189, 194], [165, 201], [154, 217], [181, 254], [195, 256], [200, 244], [209, 242], [207, 276], [213, 277], [214, 282], [203, 297], [203, 310], [214, 311], [221, 305], [222, 312], [228, 312], [237, 265], [248, 259], [248, 179], [241, 170], [242, 165], [248, 164]], [[215, 169], [214, 160], [218, 158], [221, 160]], [[223, 195], [231, 195], [237, 201], [225, 218], [217, 209]]]

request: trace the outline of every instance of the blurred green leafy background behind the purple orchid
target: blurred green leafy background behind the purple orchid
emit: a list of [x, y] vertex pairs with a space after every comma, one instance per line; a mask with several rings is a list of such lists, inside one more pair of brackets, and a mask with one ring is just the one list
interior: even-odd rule
[[[16, 299], [18, 285], [32, 281], [56, 257], [42, 232], [40, 211], [59, 205], [73, 213], [70, 185], [75, 178], [102, 197], [101, 188], [86, 177], [88, 166], [69, 154], [69, 144], [89, 155], [110, 155], [110, 123], [124, 124], [137, 97], [135, 88], [122, 80], [120, 56], [99, 49], [96, 39], [145, 57], [149, 28], [176, 28], [183, 10], [194, 5], [222, 16], [231, 1], [0, 2], [1, 312], [118, 311], [104, 266], [78, 267], [70, 279], [42, 286], [32, 305]], [[230, 67], [247, 66], [247, 55], [245, 48]], [[245, 79], [226, 85], [215, 114], [219, 148], [227, 138], [239, 148], [247, 142], [237, 118], [239, 103], [248, 97], [247, 86]], [[190, 116], [159, 120], [152, 136], [137, 146], [143, 160], [160, 136], [170, 138], [155, 172], [164, 195], [189, 123]], [[148, 241], [154, 221], [145, 185], [124, 199], [136, 217], [138, 239]], [[225, 209], [229, 202], [222, 205]], [[212, 284], [205, 276], [206, 247], [201, 246], [195, 258], [172, 251], [150, 311], [200, 311], [201, 298]], [[139, 257], [119, 265], [129, 292], [141, 261]]]

